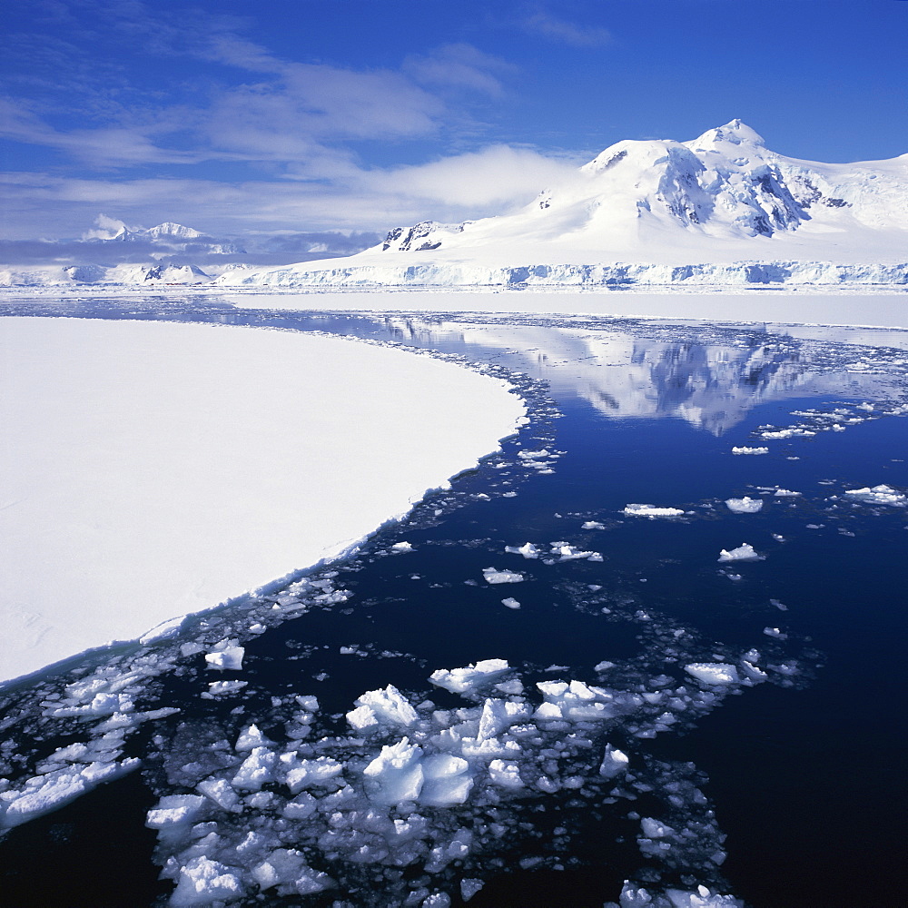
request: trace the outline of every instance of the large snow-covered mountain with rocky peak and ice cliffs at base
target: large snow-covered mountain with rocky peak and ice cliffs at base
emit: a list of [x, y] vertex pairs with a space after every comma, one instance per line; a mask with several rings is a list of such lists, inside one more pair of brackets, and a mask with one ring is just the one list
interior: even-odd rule
[[420, 222], [346, 259], [232, 271], [233, 285], [908, 283], [908, 154], [831, 164], [740, 120], [626, 140], [518, 212]]

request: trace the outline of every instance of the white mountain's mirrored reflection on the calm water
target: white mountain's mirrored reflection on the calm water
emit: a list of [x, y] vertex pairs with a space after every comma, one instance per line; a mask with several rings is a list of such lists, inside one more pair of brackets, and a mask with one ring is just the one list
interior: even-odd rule
[[[609, 325], [489, 325], [384, 320], [390, 336], [420, 347], [487, 350], [546, 380], [557, 399], [587, 400], [609, 419], [684, 419], [720, 436], [755, 407], [813, 394], [878, 395], [881, 379], [829, 368], [820, 345], [767, 331], [729, 332], [726, 343], [653, 340]], [[652, 328], [650, 328], [652, 331]], [[676, 333], [694, 335], [691, 329]]]

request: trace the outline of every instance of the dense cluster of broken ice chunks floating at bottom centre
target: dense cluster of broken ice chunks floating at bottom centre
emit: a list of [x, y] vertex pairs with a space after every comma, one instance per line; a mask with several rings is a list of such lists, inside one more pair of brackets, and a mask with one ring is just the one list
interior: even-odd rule
[[[443, 908], [458, 886], [465, 900], [477, 893], [483, 869], [504, 867], [513, 834], [545, 809], [538, 799], [558, 793], [580, 806], [634, 797], [634, 790], [670, 792], [670, 816], [643, 819], [641, 850], [668, 865], [715, 867], [725, 856], [722, 836], [703, 815], [702, 792], [673, 765], [653, 775], [651, 761], [609, 738], [653, 737], [682, 716], [704, 715], [724, 687], [766, 679], [756, 650], [739, 657], [737, 667], [687, 665], [696, 686], [650, 669], [629, 689], [553, 679], [539, 681], [535, 696], [508, 662], [487, 659], [430, 676], [467, 698], [466, 706], [437, 708], [388, 685], [355, 700], [346, 735], [331, 725], [321, 738], [309, 735], [319, 709], [313, 696], [284, 698], [292, 710], [287, 740], [274, 716], [240, 727], [234, 745], [217, 729], [202, 743], [192, 737], [196, 726], [184, 723], [174, 739], [156, 741], [169, 784], [183, 790], [159, 792], [147, 814], [158, 834], [155, 861], [174, 884], [170, 904], [234, 903], [271, 890], [292, 900], [338, 889], [374, 908]], [[180, 735], [183, 745], [175, 743]], [[546, 865], [533, 854], [525, 860]], [[636, 903], [622, 893], [621, 904], [735, 904], [716, 902], [723, 897], [708, 890], [671, 892]]]

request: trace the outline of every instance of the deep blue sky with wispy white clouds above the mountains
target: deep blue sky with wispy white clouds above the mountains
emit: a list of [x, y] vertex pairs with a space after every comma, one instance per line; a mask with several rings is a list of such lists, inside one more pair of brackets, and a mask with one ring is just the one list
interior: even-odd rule
[[734, 117], [794, 157], [908, 152], [904, 0], [4, 0], [0, 25], [6, 240], [462, 220]]

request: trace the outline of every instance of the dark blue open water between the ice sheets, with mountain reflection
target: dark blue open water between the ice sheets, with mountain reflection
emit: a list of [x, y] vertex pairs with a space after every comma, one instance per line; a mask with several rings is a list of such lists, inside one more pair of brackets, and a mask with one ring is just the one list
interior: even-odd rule
[[[451, 492], [429, 497], [358, 558], [335, 566], [335, 584], [352, 593], [347, 602], [244, 642], [242, 678], [250, 686], [242, 713], [236, 700], [198, 698], [210, 679], [201, 656], [163, 676], [154, 696], [182, 706], [180, 722], [235, 732], [252, 717], [276, 732], [281, 708], [272, 697], [317, 693], [322, 711], [339, 716], [363, 691], [388, 684], [456, 706], [455, 696], [429, 689], [427, 676], [486, 658], [519, 666], [528, 685], [552, 677], [549, 666], [597, 683], [594, 666], [602, 660], [616, 664], [610, 684], [662, 672], [683, 681], [686, 661], [756, 647], [766, 662], [794, 666], [791, 674], [776, 673], [654, 738], [624, 729], [620, 743], [646, 763], [653, 793], [601, 809], [554, 798], [522, 815], [524, 825], [509, 832], [501, 866], [486, 868], [487, 884], [471, 908], [592, 908], [617, 900], [629, 877], [656, 887], [704, 882], [754, 908], [899, 903], [908, 510], [842, 496], [880, 483], [908, 487], [908, 420], [885, 415], [905, 396], [903, 354], [752, 328], [629, 321], [574, 320], [566, 332], [555, 320], [501, 326], [478, 318], [288, 315], [165, 302], [141, 311], [85, 303], [69, 314], [336, 331], [463, 353], [528, 376], [521, 381], [535, 408], [530, 427]], [[587, 343], [594, 336], [611, 346]], [[873, 357], [875, 374], [845, 368], [859, 354]], [[755, 435], [759, 427], [795, 424], [794, 410], [831, 412], [866, 400], [879, 401], [877, 409], [850, 411], [873, 418], [844, 432], [781, 441]], [[770, 454], [731, 454], [733, 446], [761, 444]], [[553, 474], [541, 475], [518, 465], [518, 446], [563, 454]], [[495, 469], [499, 463], [507, 466]], [[760, 513], [725, 508], [725, 498], [759, 497], [760, 487]], [[775, 487], [803, 495], [775, 498], [766, 491]], [[504, 491], [517, 495], [504, 498]], [[688, 514], [625, 518], [630, 502]], [[581, 529], [587, 520], [604, 528]], [[415, 550], [389, 554], [400, 540]], [[503, 551], [528, 541], [548, 549], [555, 540], [600, 552], [603, 560], [547, 565]], [[720, 549], [742, 542], [765, 560], [717, 563]], [[490, 566], [519, 570], [526, 580], [489, 586], [481, 571]], [[521, 607], [503, 607], [507, 596]], [[783, 637], [766, 636], [765, 627]], [[666, 644], [672, 628], [686, 635], [680, 662], [666, 655], [674, 652]], [[340, 646], [358, 652], [341, 656]], [[17, 689], [4, 706], [12, 716], [29, 703], [29, 692]], [[131, 739], [135, 755], [145, 758], [143, 774], [7, 834], [0, 844], [5, 903], [114, 908], [152, 904], [169, 892], [169, 883], [155, 881], [154, 835], [143, 828], [143, 813], [155, 793], [182, 790], [168, 788], [162, 769], [177, 726], [177, 719], [161, 720]], [[30, 729], [34, 736], [35, 727], [24, 720], [7, 734]], [[46, 725], [52, 737], [61, 732]], [[666, 778], [687, 780], [706, 795], [727, 836], [720, 868], [666, 867], [637, 850], [638, 825], [627, 814], [663, 815]], [[533, 825], [544, 838], [566, 829], [558, 835], [567, 844], [547, 851], [528, 833]], [[524, 854], [539, 854], [542, 864], [520, 869]], [[345, 895], [350, 904], [365, 903], [352, 889], [327, 901], [270, 903], [331, 904]]]

